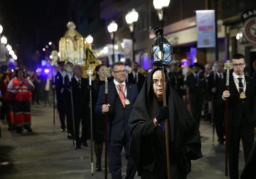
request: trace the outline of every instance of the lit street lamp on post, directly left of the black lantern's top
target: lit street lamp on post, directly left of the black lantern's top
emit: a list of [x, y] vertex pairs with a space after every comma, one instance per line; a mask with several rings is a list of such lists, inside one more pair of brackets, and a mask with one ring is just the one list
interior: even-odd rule
[[135, 22], [137, 22], [139, 18], [139, 14], [135, 9], [132, 9], [125, 15], [126, 23], [129, 25], [131, 31], [131, 39], [132, 39], [132, 61], [135, 61], [135, 53], [134, 53], [134, 26]]

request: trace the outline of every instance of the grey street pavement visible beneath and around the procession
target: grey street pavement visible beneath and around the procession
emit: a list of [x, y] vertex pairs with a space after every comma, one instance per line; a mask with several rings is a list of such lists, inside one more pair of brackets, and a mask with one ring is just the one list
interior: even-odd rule
[[[7, 131], [7, 124], [1, 123], [0, 179], [104, 179], [104, 170], [91, 175], [90, 147], [75, 150], [67, 133], [60, 132], [56, 120], [53, 133], [52, 107], [32, 105], [33, 133]], [[192, 172], [188, 179], [225, 178], [225, 145], [213, 143], [212, 126], [202, 121], [200, 126], [203, 158], [192, 161]], [[90, 141], [88, 141], [90, 146]], [[244, 156], [240, 147], [240, 173], [244, 167]], [[104, 152], [102, 154], [104, 169]], [[94, 161], [95, 161], [94, 154]], [[122, 153], [122, 173], [125, 178], [126, 161]], [[95, 167], [95, 164], [94, 164]], [[108, 174], [111, 179], [111, 175]], [[136, 176], [135, 179], [141, 177]]]

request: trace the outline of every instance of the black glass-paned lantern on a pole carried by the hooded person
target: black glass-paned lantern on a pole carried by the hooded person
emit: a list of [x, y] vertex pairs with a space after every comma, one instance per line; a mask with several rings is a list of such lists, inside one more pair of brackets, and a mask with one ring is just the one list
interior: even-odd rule
[[[153, 32], [157, 35], [156, 40], [152, 44], [151, 56], [153, 60], [153, 66], [160, 66], [162, 72], [162, 88], [163, 88], [163, 106], [166, 106], [166, 92], [165, 92], [165, 75], [164, 66], [170, 66], [172, 60], [172, 46], [164, 38], [163, 30], [160, 27], [155, 27]], [[171, 179], [171, 165], [169, 155], [169, 139], [168, 139], [168, 123], [167, 119], [164, 122], [165, 131], [165, 147], [166, 147], [166, 162], [167, 162], [167, 177]]]

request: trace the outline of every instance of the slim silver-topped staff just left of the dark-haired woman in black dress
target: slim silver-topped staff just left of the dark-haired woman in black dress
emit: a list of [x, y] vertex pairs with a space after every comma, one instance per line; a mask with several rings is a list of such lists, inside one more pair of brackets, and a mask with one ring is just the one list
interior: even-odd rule
[[94, 175], [94, 152], [93, 152], [93, 103], [92, 103], [92, 75], [93, 69], [89, 67], [87, 74], [89, 75], [89, 90], [90, 90], [90, 123], [91, 123], [91, 174]]

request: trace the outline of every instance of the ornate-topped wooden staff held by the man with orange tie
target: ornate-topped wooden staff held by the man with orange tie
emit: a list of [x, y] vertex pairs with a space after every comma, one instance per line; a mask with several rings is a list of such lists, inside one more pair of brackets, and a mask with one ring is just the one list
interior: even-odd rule
[[[110, 77], [110, 71], [108, 69], [104, 69], [102, 71], [102, 76], [105, 78], [105, 104], [108, 105], [108, 77]], [[105, 178], [108, 178], [108, 112], [104, 113], [104, 142], [105, 142]]]

